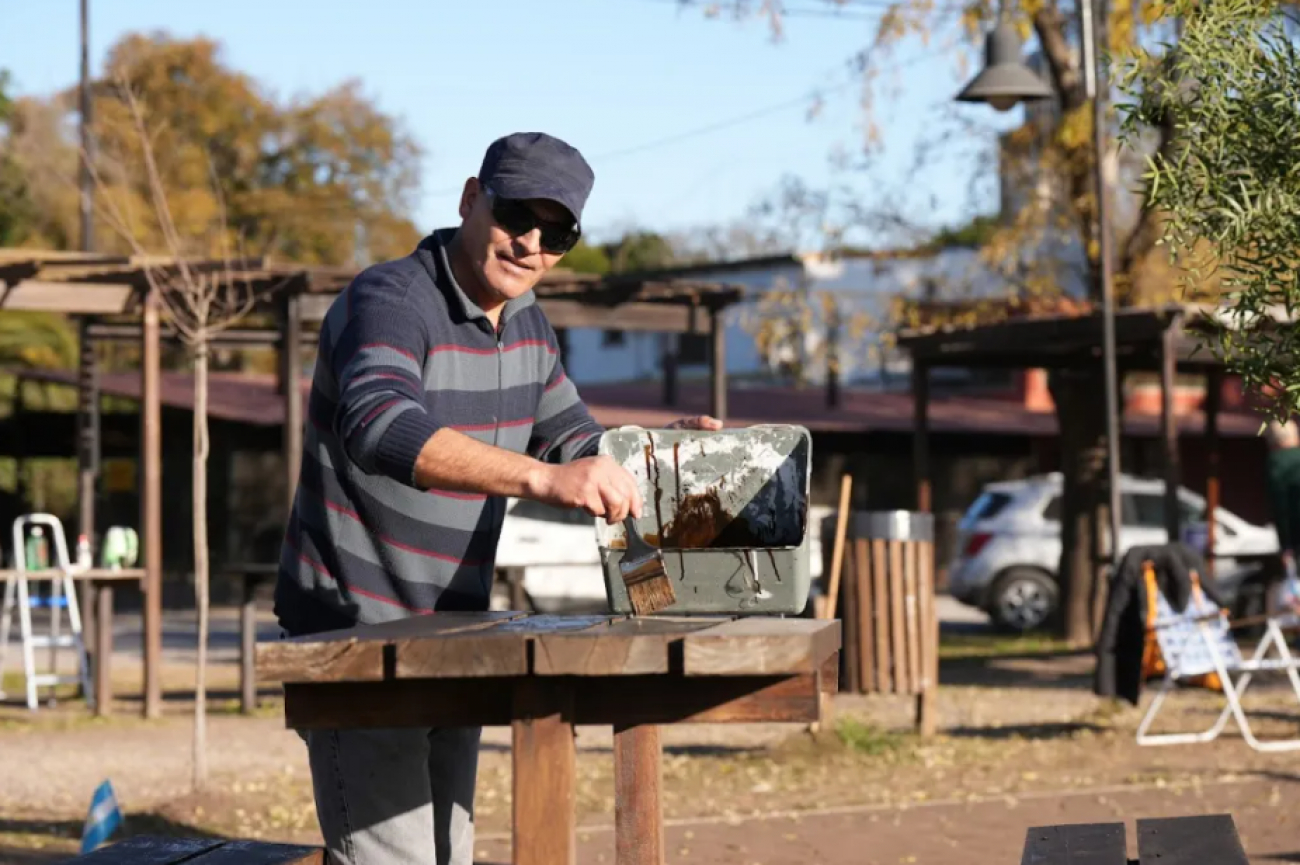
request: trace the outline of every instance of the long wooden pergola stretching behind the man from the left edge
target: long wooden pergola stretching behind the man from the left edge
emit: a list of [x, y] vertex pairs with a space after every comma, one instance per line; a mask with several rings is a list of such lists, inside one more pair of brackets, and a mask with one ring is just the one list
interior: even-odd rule
[[[174, 267], [170, 259], [140, 259], [84, 252], [0, 248], [0, 312], [44, 311], [73, 316], [79, 324], [78, 429], [83, 532], [95, 526], [95, 473], [99, 466], [99, 393], [95, 343], [131, 341], [140, 346], [140, 535], [144, 579], [146, 717], [161, 713], [161, 345], [177, 336], [165, 321], [165, 307], [148, 286], [147, 267]], [[302, 267], [265, 259], [187, 260], [187, 267], [229, 277], [254, 290], [257, 300], [250, 325], [224, 330], [213, 345], [270, 347], [280, 355], [280, 381], [303, 375], [304, 337], [318, 330], [330, 304], [356, 276], [355, 268]], [[554, 271], [536, 294], [542, 311], [564, 334], [575, 328], [694, 334], [710, 339], [710, 411], [727, 415], [727, 362], [723, 311], [742, 298], [733, 285], [690, 278], [597, 277]], [[261, 323], [256, 326], [254, 323]], [[664, 355], [664, 401], [676, 401], [676, 355]], [[303, 449], [303, 395], [281, 386], [285, 398], [283, 453], [289, 496], [298, 483]], [[107, 584], [100, 592], [112, 592]], [[108, 596], [108, 605], [112, 596]], [[104, 606], [104, 596], [99, 598]], [[88, 588], [82, 609], [94, 609]], [[87, 628], [90, 630], [90, 628]], [[96, 712], [107, 706], [96, 704]]]

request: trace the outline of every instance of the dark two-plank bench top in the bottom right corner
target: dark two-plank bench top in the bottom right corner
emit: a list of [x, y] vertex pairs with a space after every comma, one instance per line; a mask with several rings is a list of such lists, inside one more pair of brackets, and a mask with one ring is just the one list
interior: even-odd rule
[[1138, 821], [1138, 858], [1123, 823], [1037, 826], [1024, 834], [1020, 865], [1248, 865], [1228, 814]]

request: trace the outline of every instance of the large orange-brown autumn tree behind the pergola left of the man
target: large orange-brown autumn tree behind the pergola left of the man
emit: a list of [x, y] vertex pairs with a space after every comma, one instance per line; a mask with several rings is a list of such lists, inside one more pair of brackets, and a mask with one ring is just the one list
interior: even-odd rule
[[[218, 193], [248, 255], [351, 264], [404, 255], [419, 242], [422, 233], [408, 215], [420, 189], [420, 148], [356, 82], [277, 101], [229, 68], [218, 43], [165, 33], [120, 39], [94, 83], [98, 170], [124, 216], [152, 206], [143, 178], [114, 174], [117, 166], [142, 164], [118, 81], [150, 107], [159, 176], [187, 243], [209, 235]], [[12, 147], [39, 216], [34, 245], [70, 248], [77, 237], [78, 151], [65, 122], [75, 107], [74, 90], [14, 107]], [[98, 219], [103, 251], [129, 251], [107, 217]], [[138, 232], [159, 230], [138, 221]], [[139, 239], [165, 245], [160, 235]]]

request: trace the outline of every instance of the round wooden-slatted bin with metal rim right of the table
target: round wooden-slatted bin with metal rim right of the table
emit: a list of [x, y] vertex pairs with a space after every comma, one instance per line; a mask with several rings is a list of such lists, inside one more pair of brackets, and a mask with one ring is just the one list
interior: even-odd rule
[[939, 619], [935, 518], [861, 511], [849, 520], [840, 579], [841, 687], [849, 693], [916, 697], [916, 727], [935, 730]]

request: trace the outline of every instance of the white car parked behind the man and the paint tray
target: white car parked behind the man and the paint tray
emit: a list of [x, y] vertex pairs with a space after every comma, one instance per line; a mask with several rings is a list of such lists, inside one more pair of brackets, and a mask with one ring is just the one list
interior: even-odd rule
[[[809, 509], [811, 576], [822, 574], [818, 531], [826, 507]], [[581, 510], [552, 507], [526, 498], [506, 502], [506, 522], [497, 546], [497, 567], [523, 568], [524, 592], [538, 613], [604, 613], [604, 574], [595, 545], [595, 520]], [[493, 607], [508, 601], [494, 593]]]

